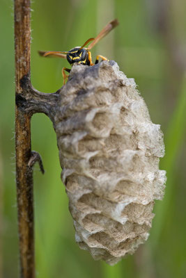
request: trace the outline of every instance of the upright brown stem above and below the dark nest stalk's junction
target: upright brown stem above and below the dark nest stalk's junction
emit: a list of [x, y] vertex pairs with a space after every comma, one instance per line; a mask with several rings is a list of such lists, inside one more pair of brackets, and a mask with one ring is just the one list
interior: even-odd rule
[[[24, 76], [30, 77], [30, 1], [15, 0], [15, 93], [22, 88]], [[34, 278], [33, 178], [28, 166], [31, 157], [31, 116], [15, 108], [15, 152], [17, 210], [20, 240], [20, 277]]]

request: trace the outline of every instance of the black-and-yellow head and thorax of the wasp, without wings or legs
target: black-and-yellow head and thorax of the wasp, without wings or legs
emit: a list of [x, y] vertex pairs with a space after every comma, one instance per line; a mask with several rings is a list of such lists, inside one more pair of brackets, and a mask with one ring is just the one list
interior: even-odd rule
[[84, 48], [81, 49], [81, 47], [75, 47], [73, 49], [70, 49], [70, 51], [68, 51], [66, 58], [70, 63], [70, 65], [72, 65], [73, 63], [88, 65], [87, 50]]

